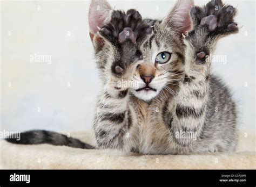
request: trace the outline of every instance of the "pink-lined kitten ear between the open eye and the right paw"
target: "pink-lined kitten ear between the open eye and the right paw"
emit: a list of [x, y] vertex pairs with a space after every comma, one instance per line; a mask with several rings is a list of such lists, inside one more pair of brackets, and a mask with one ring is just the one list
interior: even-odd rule
[[190, 11], [194, 6], [194, 0], [178, 0], [169, 15], [164, 18], [163, 24], [173, 28], [177, 34], [185, 34], [190, 31]]

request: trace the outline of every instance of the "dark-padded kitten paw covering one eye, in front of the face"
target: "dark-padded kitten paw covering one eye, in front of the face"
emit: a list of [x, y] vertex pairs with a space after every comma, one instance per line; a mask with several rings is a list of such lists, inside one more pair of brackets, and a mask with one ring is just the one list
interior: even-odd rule
[[119, 53], [111, 67], [117, 77], [125, 75], [130, 65], [142, 58], [140, 45], [153, 33], [151, 25], [134, 9], [127, 12], [113, 10], [111, 19], [98, 29], [100, 37], [108, 40]]

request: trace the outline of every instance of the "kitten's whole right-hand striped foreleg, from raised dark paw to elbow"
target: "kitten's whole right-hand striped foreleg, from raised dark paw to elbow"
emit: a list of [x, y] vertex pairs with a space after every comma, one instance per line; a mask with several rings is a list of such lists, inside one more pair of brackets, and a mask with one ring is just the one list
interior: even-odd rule
[[[191, 10], [193, 30], [184, 39], [184, 81], [174, 102], [172, 121], [173, 140], [179, 145], [192, 148], [200, 139], [205, 123], [208, 92], [210, 87], [211, 54], [219, 38], [237, 33], [234, 23], [237, 10], [221, 1], [211, 1], [203, 8]], [[180, 138], [176, 134], [191, 134]]]

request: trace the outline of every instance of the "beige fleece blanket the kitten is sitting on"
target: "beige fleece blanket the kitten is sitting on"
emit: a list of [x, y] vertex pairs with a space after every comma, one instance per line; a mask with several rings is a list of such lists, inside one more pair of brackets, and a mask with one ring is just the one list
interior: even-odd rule
[[[95, 145], [91, 131], [71, 136]], [[235, 153], [140, 155], [51, 145], [0, 142], [3, 169], [256, 169], [255, 133], [240, 133]]]

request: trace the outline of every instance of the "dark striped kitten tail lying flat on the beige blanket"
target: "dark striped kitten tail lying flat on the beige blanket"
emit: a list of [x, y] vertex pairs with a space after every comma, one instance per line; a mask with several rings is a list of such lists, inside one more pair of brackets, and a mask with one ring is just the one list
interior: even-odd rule
[[84, 143], [78, 139], [68, 137], [67, 135], [64, 134], [45, 130], [26, 131], [22, 132], [20, 136], [15, 136], [12, 134], [11, 136], [9, 136], [9, 138], [6, 138], [5, 140], [10, 143], [24, 145], [48, 143], [50, 145], [55, 146], [69, 146], [82, 149], [95, 149], [95, 147], [87, 143]]

